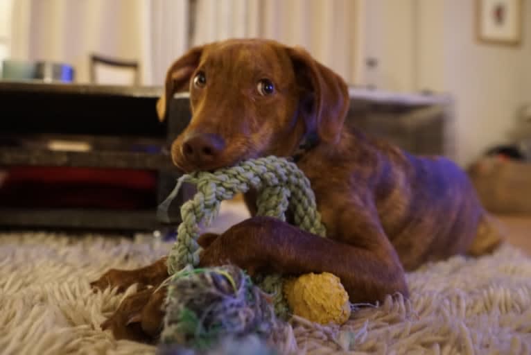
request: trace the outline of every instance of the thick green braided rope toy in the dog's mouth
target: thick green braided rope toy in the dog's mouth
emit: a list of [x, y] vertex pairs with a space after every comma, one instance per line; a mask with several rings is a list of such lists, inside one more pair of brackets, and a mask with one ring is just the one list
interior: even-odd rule
[[[195, 172], [183, 175], [171, 195], [160, 205], [161, 218], [168, 220], [167, 210], [183, 182], [195, 184], [198, 192], [193, 200], [181, 207], [182, 223], [177, 228], [177, 241], [168, 254], [168, 273], [174, 275], [186, 266], [198, 266], [200, 246], [197, 243], [199, 223], [209, 225], [218, 215], [220, 203], [234, 198], [236, 193], [250, 189], [258, 191], [256, 201], [259, 216], [271, 216], [286, 220], [288, 207], [293, 211], [295, 225], [319, 236], [326, 236], [321, 216], [315, 205], [315, 195], [306, 175], [287, 159], [262, 157], [250, 159], [214, 173]], [[282, 293], [279, 275], [261, 278], [263, 291], [272, 293], [275, 313], [286, 318], [288, 307]]]

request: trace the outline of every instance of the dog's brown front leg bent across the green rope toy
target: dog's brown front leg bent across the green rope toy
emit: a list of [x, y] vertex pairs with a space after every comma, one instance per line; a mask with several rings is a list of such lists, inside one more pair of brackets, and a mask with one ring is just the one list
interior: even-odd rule
[[200, 240], [200, 265], [234, 263], [251, 274], [331, 272], [341, 279], [351, 302], [375, 302], [397, 292], [407, 297], [403, 268], [385, 234], [363, 239], [370, 243], [358, 246], [322, 238], [276, 218], [254, 217], [217, 239]]

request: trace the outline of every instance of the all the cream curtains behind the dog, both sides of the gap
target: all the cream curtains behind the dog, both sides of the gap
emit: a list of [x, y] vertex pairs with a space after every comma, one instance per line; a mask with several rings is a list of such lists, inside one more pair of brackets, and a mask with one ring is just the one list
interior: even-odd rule
[[91, 52], [139, 60], [142, 83], [160, 85], [189, 44], [268, 37], [306, 47], [353, 82], [359, 2], [197, 0], [189, 43], [189, 0], [17, 0], [12, 55], [73, 64], [80, 83], [88, 81]]

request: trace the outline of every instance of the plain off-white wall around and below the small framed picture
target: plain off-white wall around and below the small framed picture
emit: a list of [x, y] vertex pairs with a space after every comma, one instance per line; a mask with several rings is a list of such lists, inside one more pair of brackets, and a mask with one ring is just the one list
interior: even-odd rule
[[[524, 1], [519, 47], [482, 44], [473, 1], [444, 1], [444, 86], [456, 98], [458, 160], [468, 164], [493, 144], [511, 142], [516, 112], [531, 101], [531, 0]], [[527, 67], [527, 68], [526, 68]]]

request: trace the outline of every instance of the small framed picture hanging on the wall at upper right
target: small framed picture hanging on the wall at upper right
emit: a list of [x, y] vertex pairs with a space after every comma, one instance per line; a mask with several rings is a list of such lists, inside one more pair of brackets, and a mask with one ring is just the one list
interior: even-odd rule
[[523, 0], [476, 0], [479, 42], [519, 46], [522, 41]]

